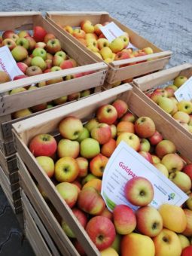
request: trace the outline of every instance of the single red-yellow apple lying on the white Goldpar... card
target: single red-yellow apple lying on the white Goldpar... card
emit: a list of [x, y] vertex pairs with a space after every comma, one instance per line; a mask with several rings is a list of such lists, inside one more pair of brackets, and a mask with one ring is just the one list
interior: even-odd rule
[[147, 206], [154, 198], [154, 187], [147, 178], [134, 177], [126, 181], [124, 194], [134, 206]]

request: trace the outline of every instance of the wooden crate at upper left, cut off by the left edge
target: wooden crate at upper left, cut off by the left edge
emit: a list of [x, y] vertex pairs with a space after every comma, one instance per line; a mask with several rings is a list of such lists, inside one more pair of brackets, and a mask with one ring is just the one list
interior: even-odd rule
[[[72, 93], [80, 92], [92, 88], [93, 93], [101, 90], [105, 81], [105, 75], [108, 66], [104, 62], [97, 63], [91, 56], [84, 53], [80, 47], [72, 43], [65, 35], [62, 35], [58, 29], [51, 25], [39, 12], [17, 12], [1, 13], [0, 12], [0, 32], [8, 29], [17, 31], [27, 29], [31, 30], [33, 26], [43, 26], [47, 32], [53, 33], [59, 39], [62, 49], [78, 62], [78, 67], [73, 69], [62, 70], [59, 72], [50, 72], [42, 75], [35, 75], [29, 78], [23, 78], [17, 81], [11, 81], [1, 84], [0, 88], [0, 148], [5, 156], [13, 154], [13, 139], [11, 134], [11, 124], [17, 121], [11, 116], [15, 111], [23, 108], [30, 108], [44, 102], [50, 102], [60, 96], [67, 96]], [[78, 74], [81, 72], [90, 73], [80, 78], [69, 81], [62, 81], [56, 84], [50, 84], [38, 90], [26, 90], [22, 93], [9, 95], [8, 92], [17, 87], [25, 87], [29, 84], [38, 84], [41, 81], [65, 77], [66, 75]], [[57, 108], [57, 106], [55, 107]], [[48, 110], [45, 110], [48, 111]], [[36, 112], [32, 115], [38, 114]], [[27, 117], [26, 117], [27, 118]]]

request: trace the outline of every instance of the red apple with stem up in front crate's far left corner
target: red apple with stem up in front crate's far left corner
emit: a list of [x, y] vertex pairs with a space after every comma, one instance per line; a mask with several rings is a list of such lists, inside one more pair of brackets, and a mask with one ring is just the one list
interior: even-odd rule
[[35, 157], [51, 157], [56, 152], [56, 140], [50, 134], [38, 134], [29, 142], [29, 150]]

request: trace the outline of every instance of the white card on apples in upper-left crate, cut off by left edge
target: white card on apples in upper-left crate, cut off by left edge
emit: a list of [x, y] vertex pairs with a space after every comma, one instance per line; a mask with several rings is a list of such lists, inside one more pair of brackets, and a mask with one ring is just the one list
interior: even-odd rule
[[17, 66], [8, 46], [0, 47], [0, 70], [7, 73], [11, 80], [17, 75], [24, 75]]

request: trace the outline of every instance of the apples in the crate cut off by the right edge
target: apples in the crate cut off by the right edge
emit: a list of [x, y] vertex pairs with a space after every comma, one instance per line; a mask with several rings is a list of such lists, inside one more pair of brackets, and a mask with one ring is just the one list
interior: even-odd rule
[[152, 99], [160, 108], [163, 108], [166, 113], [170, 114], [181, 126], [192, 133], [192, 102], [181, 100], [178, 102], [175, 98], [175, 91], [181, 87], [187, 77], [179, 75], [176, 77], [172, 84], [164, 88], [157, 88], [152, 93], [147, 95]]

